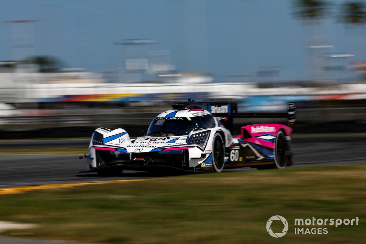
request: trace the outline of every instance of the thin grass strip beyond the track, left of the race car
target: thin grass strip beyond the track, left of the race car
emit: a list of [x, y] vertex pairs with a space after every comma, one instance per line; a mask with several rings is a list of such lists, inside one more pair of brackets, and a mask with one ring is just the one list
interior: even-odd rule
[[85, 147], [55, 147], [36, 149], [0, 149], [0, 154], [84, 154], [88, 149]]

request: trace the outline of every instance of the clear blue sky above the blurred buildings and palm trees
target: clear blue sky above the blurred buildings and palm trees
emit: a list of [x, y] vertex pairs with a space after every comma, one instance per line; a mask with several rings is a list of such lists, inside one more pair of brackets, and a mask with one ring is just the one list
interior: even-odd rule
[[[332, 1], [334, 9], [344, 1]], [[180, 72], [248, 74], [261, 79], [258, 68], [281, 67], [273, 80], [339, 76], [309, 70], [331, 61], [312, 59], [324, 52], [352, 53], [366, 59], [365, 27], [345, 28], [335, 18], [304, 26], [292, 14], [290, 0], [0, 0], [0, 60], [35, 53], [53, 55], [69, 68], [113, 71], [126, 57], [169, 50]], [[32, 24], [5, 23], [38, 20]], [[21, 26], [23, 25], [23, 26]], [[33, 27], [33, 29], [32, 29]], [[33, 38], [34, 36], [34, 38]], [[114, 45], [124, 39], [153, 39], [138, 47]], [[15, 44], [34, 43], [22, 49]], [[309, 53], [309, 45], [333, 45]], [[135, 49], [135, 50], [134, 50]], [[332, 61], [334, 63], [334, 61]], [[336, 61], [345, 64], [346, 60]], [[344, 71], [342, 74], [344, 75]]]

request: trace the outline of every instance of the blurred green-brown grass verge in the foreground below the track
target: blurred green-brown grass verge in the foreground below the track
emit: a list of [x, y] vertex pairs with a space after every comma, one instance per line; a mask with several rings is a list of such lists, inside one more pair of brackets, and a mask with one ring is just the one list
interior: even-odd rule
[[[87, 243], [364, 243], [365, 172], [366, 165], [318, 166], [37, 190], [1, 195], [0, 220], [40, 226], [26, 237]], [[266, 231], [273, 215], [288, 221], [281, 238]], [[312, 217], [361, 220], [294, 234], [295, 218]]]

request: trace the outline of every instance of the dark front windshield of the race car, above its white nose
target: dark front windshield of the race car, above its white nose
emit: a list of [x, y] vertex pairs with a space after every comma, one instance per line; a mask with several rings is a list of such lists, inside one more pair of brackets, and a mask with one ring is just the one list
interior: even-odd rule
[[197, 118], [155, 118], [147, 130], [147, 136], [187, 135], [195, 128], [202, 128]]

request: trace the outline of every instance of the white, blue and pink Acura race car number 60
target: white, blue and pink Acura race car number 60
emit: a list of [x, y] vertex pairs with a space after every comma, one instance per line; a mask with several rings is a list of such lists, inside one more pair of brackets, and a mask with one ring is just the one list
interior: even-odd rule
[[[251, 166], [284, 168], [293, 164], [291, 153], [295, 103], [284, 114], [240, 114], [236, 104], [187, 103], [172, 105], [151, 122], [146, 136], [131, 139], [122, 128], [96, 129], [89, 143], [88, 170], [108, 176], [124, 169], [159, 172], [221, 172], [225, 168]], [[288, 117], [288, 125], [253, 124], [241, 127], [233, 137], [235, 117]], [[226, 126], [225, 126], [226, 125]]]

